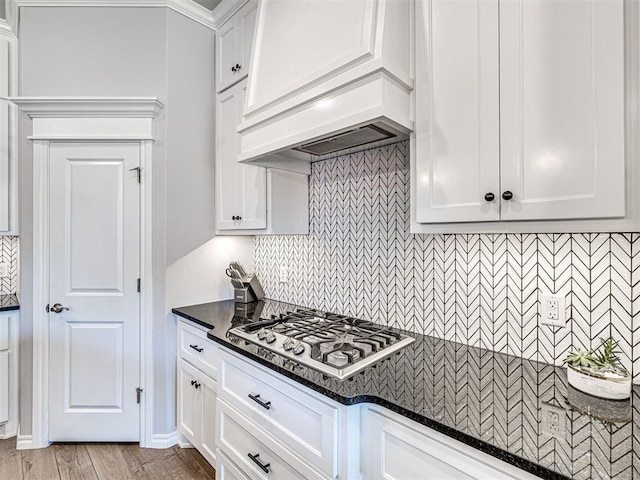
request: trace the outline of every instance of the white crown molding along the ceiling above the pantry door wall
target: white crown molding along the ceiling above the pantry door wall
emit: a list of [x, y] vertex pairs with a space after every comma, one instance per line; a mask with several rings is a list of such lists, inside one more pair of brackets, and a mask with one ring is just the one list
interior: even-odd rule
[[191, 0], [15, 0], [18, 7], [165, 7], [214, 30], [211, 10]]

